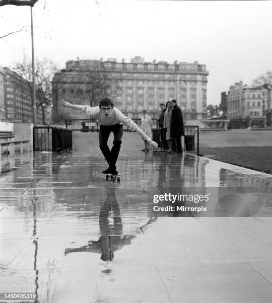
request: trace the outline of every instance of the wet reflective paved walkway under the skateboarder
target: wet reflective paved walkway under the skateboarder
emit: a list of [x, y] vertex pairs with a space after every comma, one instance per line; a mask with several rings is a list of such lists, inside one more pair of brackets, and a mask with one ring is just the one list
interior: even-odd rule
[[[272, 175], [161, 152], [121, 152], [121, 182], [106, 182], [100, 153], [16, 154], [8, 165], [0, 292], [41, 303], [272, 302]], [[247, 196], [248, 215], [160, 216], [148, 195], [171, 188], [259, 196]]]

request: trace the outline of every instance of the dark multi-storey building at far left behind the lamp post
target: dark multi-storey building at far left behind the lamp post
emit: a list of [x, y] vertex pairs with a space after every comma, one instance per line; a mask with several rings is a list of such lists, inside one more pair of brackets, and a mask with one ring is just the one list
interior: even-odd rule
[[[7, 67], [4, 73], [4, 110], [10, 122], [33, 122], [32, 96], [29, 85]], [[42, 110], [37, 108], [37, 124], [42, 124]]]

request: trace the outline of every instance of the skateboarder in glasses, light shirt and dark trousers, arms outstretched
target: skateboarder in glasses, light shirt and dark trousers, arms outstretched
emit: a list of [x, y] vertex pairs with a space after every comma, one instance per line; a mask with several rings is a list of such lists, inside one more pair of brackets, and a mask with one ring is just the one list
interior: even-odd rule
[[[113, 101], [109, 98], [103, 98], [99, 102], [99, 106], [91, 107], [89, 105], [76, 105], [69, 102], [62, 101], [65, 107], [80, 109], [89, 115], [91, 118], [97, 119], [100, 123], [99, 130], [99, 147], [103, 153], [109, 168], [103, 171], [105, 174], [117, 175], [116, 161], [121, 147], [121, 139], [123, 136], [123, 124], [125, 124], [130, 131], [136, 131], [144, 140], [146, 140], [153, 149], [157, 149], [158, 145], [152, 141], [131, 118], [126, 117], [119, 109], [114, 107]], [[110, 151], [108, 147], [108, 139], [110, 133], [113, 132], [114, 140], [113, 147]]]

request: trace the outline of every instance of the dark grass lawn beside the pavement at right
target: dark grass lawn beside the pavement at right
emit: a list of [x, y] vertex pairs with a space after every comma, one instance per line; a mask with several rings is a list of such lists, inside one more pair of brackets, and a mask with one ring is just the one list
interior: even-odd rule
[[272, 174], [272, 146], [200, 148], [200, 155]]

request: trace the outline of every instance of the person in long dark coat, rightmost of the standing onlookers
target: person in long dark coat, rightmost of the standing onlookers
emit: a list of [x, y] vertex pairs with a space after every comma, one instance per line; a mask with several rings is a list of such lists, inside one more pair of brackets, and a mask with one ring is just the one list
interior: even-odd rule
[[181, 136], [184, 136], [182, 112], [176, 100], [171, 101], [171, 106], [173, 107], [171, 117], [172, 147], [174, 152], [182, 153]]

